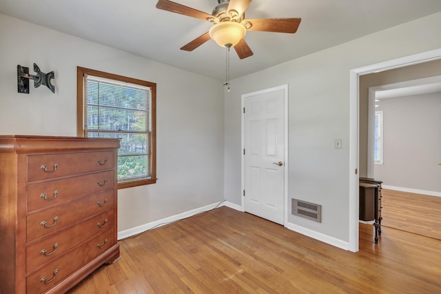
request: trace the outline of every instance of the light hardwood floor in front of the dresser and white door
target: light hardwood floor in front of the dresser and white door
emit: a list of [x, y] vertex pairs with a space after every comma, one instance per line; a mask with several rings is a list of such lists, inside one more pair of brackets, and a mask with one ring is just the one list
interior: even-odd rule
[[441, 241], [388, 227], [351, 253], [220, 207], [119, 244], [69, 293], [441, 293]]

